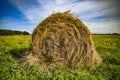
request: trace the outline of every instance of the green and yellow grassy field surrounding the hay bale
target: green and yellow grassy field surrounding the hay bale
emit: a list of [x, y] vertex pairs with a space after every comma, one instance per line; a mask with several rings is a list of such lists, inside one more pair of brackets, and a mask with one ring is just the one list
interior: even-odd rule
[[120, 80], [120, 35], [93, 35], [102, 64], [95, 70], [60, 66], [39, 71], [37, 65], [24, 68], [21, 54], [31, 36], [0, 36], [0, 80]]

